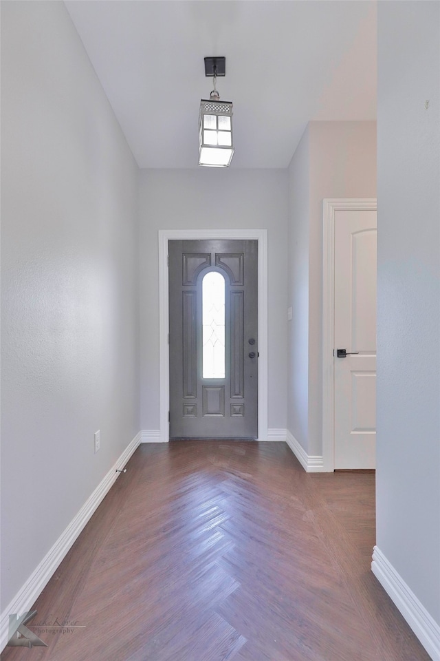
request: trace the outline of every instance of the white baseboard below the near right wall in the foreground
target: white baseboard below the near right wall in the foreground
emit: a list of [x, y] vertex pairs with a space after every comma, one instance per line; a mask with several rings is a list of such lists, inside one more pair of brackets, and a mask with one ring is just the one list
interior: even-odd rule
[[440, 661], [440, 625], [430, 616], [382, 551], [374, 547], [371, 571], [433, 661]]

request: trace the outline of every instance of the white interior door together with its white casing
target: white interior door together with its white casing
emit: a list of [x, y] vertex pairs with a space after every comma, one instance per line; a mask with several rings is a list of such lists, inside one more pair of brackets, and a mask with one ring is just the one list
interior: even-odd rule
[[[327, 471], [375, 467], [376, 208], [375, 199], [324, 200], [322, 454]], [[338, 348], [346, 349], [347, 357], [338, 358]]]

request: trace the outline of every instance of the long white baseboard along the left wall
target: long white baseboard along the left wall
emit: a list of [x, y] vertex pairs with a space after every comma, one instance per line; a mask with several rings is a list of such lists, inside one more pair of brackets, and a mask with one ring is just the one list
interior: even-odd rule
[[139, 432], [134, 437], [133, 441], [129, 443], [124, 452], [122, 452], [118, 461], [112, 466], [107, 475], [104, 476], [102, 481], [98, 484], [94, 492], [89, 496], [83, 507], [76, 516], [72, 519], [71, 523], [67, 526], [65, 531], [61, 534], [58, 540], [52, 546], [52, 549], [45, 555], [41, 563], [34, 569], [31, 576], [26, 583], [21, 587], [19, 592], [14, 596], [8, 607], [5, 608], [0, 616], [0, 651], [8, 644], [8, 629], [9, 629], [9, 616], [18, 613], [21, 615], [28, 611], [34, 604], [36, 598], [41, 594], [50, 578], [56, 571], [58, 565], [69, 552], [80, 532], [83, 531], [86, 523], [94, 514], [98, 505], [107, 495], [115, 481], [118, 479], [118, 468], [123, 468], [129, 461], [131, 455], [136, 450], [141, 441], [141, 433]]

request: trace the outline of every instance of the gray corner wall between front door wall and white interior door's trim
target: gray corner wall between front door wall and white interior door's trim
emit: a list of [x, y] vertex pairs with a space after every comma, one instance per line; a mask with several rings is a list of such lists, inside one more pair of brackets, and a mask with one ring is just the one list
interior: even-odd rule
[[289, 167], [288, 330], [299, 370], [289, 377], [288, 429], [310, 455], [322, 454], [322, 200], [375, 197], [375, 122], [310, 122]]

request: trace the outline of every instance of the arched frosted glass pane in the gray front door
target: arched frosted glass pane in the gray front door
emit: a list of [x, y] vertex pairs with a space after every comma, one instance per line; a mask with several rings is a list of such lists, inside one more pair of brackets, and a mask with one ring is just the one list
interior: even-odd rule
[[215, 271], [201, 284], [203, 379], [225, 378], [225, 279]]

